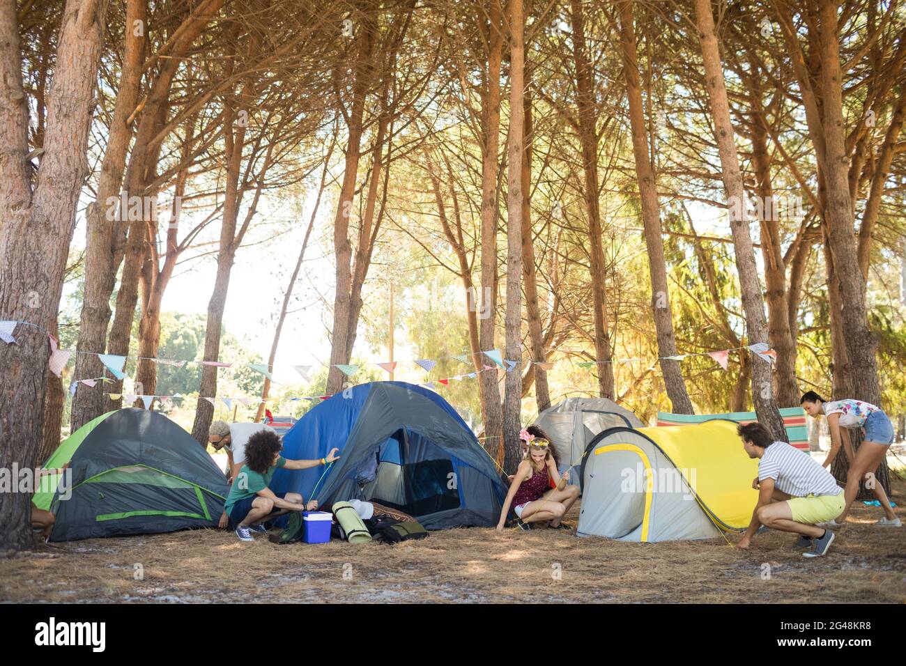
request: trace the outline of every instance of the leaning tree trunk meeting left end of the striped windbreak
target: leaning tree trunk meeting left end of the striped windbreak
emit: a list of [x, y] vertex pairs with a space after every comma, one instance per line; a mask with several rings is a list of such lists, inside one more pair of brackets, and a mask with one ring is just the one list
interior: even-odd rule
[[639, 181], [641, 219], [645, 228], [645, 246], [648, 248], [648, 265], [651, 273], [651, 309], [658, 335], [660, 369], [672, 409], [677, 414], [693, 414], [692, 401], [686, 391], [679, 361], [670, 359], [677, 355], [673, 334], [673, 317], [670, 308], [670, 286], [667, 282], [667, 265], [664, 260], [660, 204], [654, 169], [649, 158], [648, 138], [645, 132], [644, 108], [639, 85], [639, 58], [636, 53], [635, 28], [631, 2], [620, 5], [623, 74], [626, 80], [626, 97], [632, 133], [632, 153], [635, 156], [635, 175]]

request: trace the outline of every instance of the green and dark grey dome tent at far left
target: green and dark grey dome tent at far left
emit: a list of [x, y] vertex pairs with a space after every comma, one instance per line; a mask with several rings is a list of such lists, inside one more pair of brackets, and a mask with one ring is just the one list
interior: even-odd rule
[[[51, 541], [213, 527], [229, 487], [207, 451], [155, 411], [112, 411], [76, 430], [45, 463], [71, 460], [57, 483]], [[68, 487], [67, 487], [68, 486]], [[41, 506], [46, 495], [36, 493]]]

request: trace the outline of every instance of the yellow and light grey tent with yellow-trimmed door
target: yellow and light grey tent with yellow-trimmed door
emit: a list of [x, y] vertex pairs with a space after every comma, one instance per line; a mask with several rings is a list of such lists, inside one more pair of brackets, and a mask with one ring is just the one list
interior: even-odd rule
[[744, 529], [758, 462], [736, 423], [611, 428], [585, 449], [579, 536], [623, 541], [707, 539]]

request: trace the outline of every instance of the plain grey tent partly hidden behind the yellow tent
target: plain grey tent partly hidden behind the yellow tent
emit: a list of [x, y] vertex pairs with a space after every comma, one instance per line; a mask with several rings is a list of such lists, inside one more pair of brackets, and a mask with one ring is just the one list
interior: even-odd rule
[[578, 486], [579, 466], [592, 439], [609, 428], [641, 428], [644, 424], [630, 410], [606, 398], [566, 398], [542, 411], [535, 425], [554, 440], [560, 472], [570, 469], [570, 483]]

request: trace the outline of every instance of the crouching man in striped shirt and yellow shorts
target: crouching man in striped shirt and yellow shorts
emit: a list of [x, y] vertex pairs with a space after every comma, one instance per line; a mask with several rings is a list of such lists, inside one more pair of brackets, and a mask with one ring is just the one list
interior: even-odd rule
[[805, 557], [826, 554], [834, 533], [817, 525], [843, 511], [843, 488], [811, 456], [775, 441], [760, 423], [740, 425], [737, 433], [748, 457], [758, 458], [758, 476], [752, 483], [758, 504], [737, 548], [747, 548], [759, 526], [766, 526], [799, 535], [796, 545], [811, 546]]

